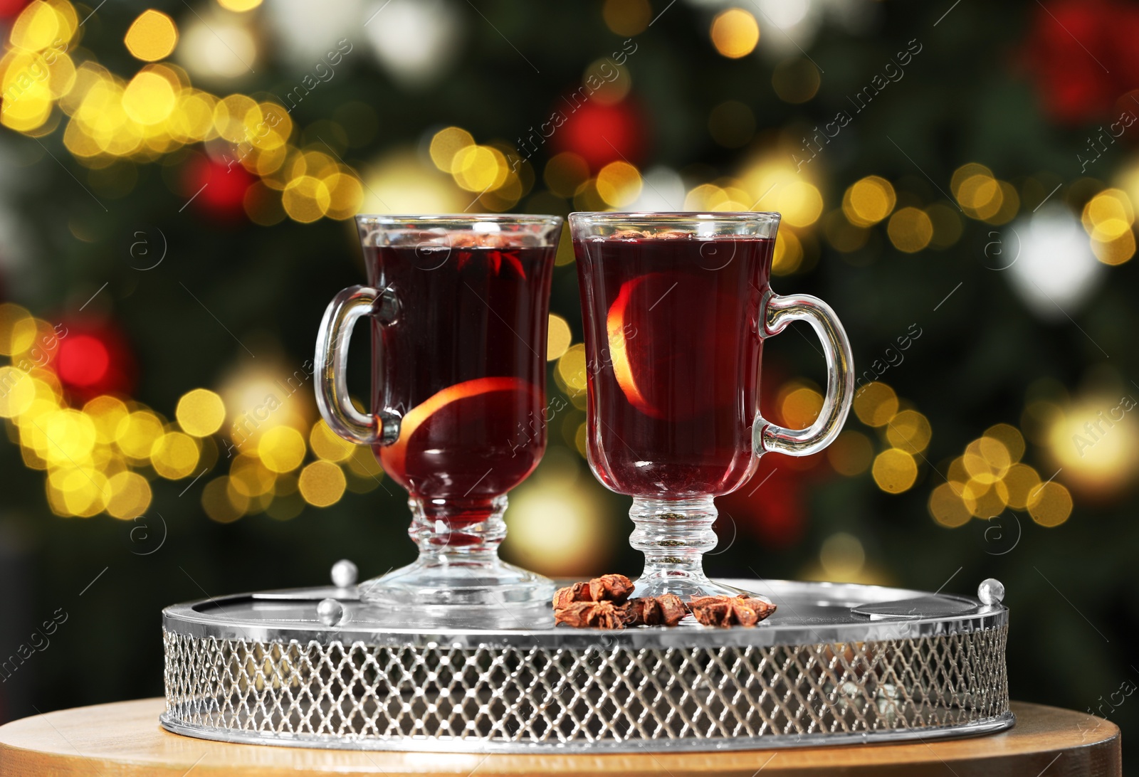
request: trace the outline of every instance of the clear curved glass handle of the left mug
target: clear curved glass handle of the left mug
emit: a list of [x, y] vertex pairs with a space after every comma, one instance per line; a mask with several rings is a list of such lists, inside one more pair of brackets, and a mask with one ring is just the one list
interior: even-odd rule
[[380, 410], [360, 412], [349, 399], [349, 342], [357, 319], [375, 316], [387, 326], [395, 322], [399, 302], [391, 288], [350, 286], [328, 303], [317, 335], [317, 407], [334, 432], [364, 445], [390, 445], [400, 436], [400, 415]]

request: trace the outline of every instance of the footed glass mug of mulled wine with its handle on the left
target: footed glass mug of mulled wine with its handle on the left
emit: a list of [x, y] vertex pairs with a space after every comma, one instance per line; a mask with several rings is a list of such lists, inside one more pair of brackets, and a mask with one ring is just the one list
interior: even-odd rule
[[[494, 625], [546, 613], [554, 583], [499, 559], [506, 492], [546, 450], [546, 338], [562, 219], [360, 215], [368, 285], [328, 305], [317, 403], [408, 490], [418, 559], [360, 586], [372, 604]], [[371, 321], [371, 412], [349, 399], [347, 343]], [[526, 430], [528, 433], [519, 433]], [[507, 625], [516, 623], [507, 623]]]

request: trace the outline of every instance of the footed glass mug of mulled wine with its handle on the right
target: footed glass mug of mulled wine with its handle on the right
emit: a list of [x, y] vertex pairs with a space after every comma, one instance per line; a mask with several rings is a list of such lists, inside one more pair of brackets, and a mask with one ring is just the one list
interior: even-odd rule
[[[850, 343], [834, 311], [770, 287], [778, 213], [571, 213], [587, 357], [587, 448], [608, 489], [631, 496], [645, 554], [634, 596], [737, 595], [710, 581], [713, 498], [770, 451], [808, 456], [842, 430]], [[760, 414], [763, 341], [792, 321], [822, 341], [827, 395], [804, 430]]]

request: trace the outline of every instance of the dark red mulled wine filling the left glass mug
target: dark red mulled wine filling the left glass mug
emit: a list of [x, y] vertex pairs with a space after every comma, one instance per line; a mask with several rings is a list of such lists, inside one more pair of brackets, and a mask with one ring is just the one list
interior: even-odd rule
[[[495, 236], [482, 236], [495, 237]], [[382, 343], [374, 407], [402, 416], [375, 448], [428, 518], [485, 520], [546, 449], [546, 332], [555, 248], [368, 247], [369, 283], [399, 313]]]

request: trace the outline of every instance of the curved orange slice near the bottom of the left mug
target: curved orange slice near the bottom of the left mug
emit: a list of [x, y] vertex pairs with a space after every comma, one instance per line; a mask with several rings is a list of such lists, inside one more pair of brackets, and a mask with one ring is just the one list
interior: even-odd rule
[[[408, 445], [417, 431], [426, 428], [424, 425], [428, 424], [433, 418], [439, 418], [439, 414], [446, 414], [449, 410], [456, 409], [456, 403], [464, 400], [477, 400], [480, 398], [486, 400], [478, 402], [473, 408], [475, 411], [481, 410], [485, 412], [491, 407], [490, 396], [495, 392], [511, 392], [516, 395], [516, 398], [502, 398], [502, 401], [509, 403], [511, 408], [517, 407], [517, 415], [519, 417], [525, 417], [533, 408], [540, 409], [542, 407], [542, 396], [538, 386], [522, 378], [486, 377], [457, 383], [433, 394], [403, 416], [400, 422], [399, 439], [391, 445], [379, 449], [380, 461], [398, 480], [404, 480], [407, 476]], [[513, 422], [514, 416], [511, 415], [510, 419], [507, 420]], [[505, 422], [502, 425], [510, 432], [514, 431], [514, 423], [506, 424]], [[440, 430], [433, 430], [432, 432], [437, 433]], [[445, 431], [442, 432], [445, 433]], [[497, 439], [486, 441], [487, 444], [498, 442], [499, 440]]]

